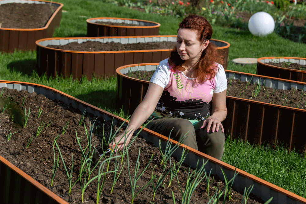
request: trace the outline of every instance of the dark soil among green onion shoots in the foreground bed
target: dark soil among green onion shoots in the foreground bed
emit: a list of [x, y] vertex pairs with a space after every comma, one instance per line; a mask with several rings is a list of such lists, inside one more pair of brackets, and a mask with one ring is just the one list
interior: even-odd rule
[[[59, 165], [56, 171], [53, 187], [51, 187], [51, 177], [54, 164], [54, 152], [53, 152], [53, 142], [54, 139], [59, 135], [57, 140], [59, 149], [62, 152], [65, 165], [69, 171], [73, 170], [72, 182], [75, 182], [78, 178], [78, 173], [80, 171], [80, 161], [82, 161], [82, 154], [80, 148], [77, 144], [76, 134], [79, 138], [83, 138], [85, 135], [85, 128], [89, 130], [90, 123], [93, 124], [95, 119], [90, 114], [85, 114], [84, 122], [78, 125], [81, 118], [81, 113], [70, 107], [68, 104], [63, 104], [61, 102], [52, 101], [43, 95], [36, 95], [35, 93], [28, 93], [27, 91], [17, 91], [16, 89], [4, 88], [4, 93], [1, 97], [1, 101], [9, 101], [9, 107], [0, 114], [0, 155], [6, 160], [10, 161], [13, 165], [17, 166], [19, 169], [27, 173], [29, 176], [37, 180], [40, 184], [49, 188], [55, 194], [59, 195], [61, 198], [69, 203], [81, 203], [81, 192], [80, 192], [80, 182], [72, 187], [71, 194], [69, 195], [68, 190], [68, 179], [64, 170], [61, 158], [59, 158]], [[27, 97], [23, 103], [23, 98]], [[3, 105], [3, 104], [2, 104]], [[38, 117], [39, 107], [42, 113]], [[23, 128], [24, 124], [24, 108], [28, 114], [30, 109], [30, 114], [26, 128]], [[21, 115], [20, 115], [21, 114]], [[14, 116], [13, 116], [14, 115]], [[63, 126], [68, 124], [67, 130], [63, 132]], [[46, 124], [50, 123], [48, 127]], [[103, 130], [106, 139], [110, 135], [110, 130], [112, 128], [112, 134], [118, 129], [116, 126], [112, 126], [111, 123], [106, 122], [103, 127], [103, 119], [97, 118], [94, 125], [94, 132], [92, 134], [92, 141], [95, 142], [96, 147], [101, 147], [103, 143]], [[36, 137], [37, 128], [40, 124], [43, 124], [43, 130]], [[45, 125], [44, 125], [45, 124]], [[7, 135], [9, 131], [12, 133], [10, 140], [8, 141]], [[119, 133], [124, 131], [120, 129]], [[118, 133], [118, 134], [119, 134]], [[32, 143], [26, 148], [29, 137], [33, 135]], [[87, 146], [87, 138], [84, 137], [81, 140], [81, 146], [84, 149]], [[158, 177], [162, 174], [163, 165], [161, 165], [161, 154], [158, 147], [152, 146], [147, 143], [144, 139], [137, 137], [129, 148], [129, 167], [131, 174], [134, 174], [135, 162], [137, 160], [138, 151], [140, 148], [140, 169], [138, 174], [143, 171], [145, 166], [148, 164], [151, 155], [154, 154], [153, 160], [149, 164], [147, 170], [144, 172], [143, 176], [137, 181], [136, 191], [139, 191], [146, 183], [151, 179], [151, 173], [157, 175]], [[55, 146], [55, 155], [59, 155], [58, 149]], [[73, 164], [72, 164], [73, 156]], [[173, 159], [173, 158], [172, 158]], [[104, 158], [103, 158], [104, 160]], [[114, 170], [114, 159], [110, 162], [109, 170]], [[125, 163], [124, 166], [120, 165], [119, 169], [123, 170], [119, 176], [118, 181], [114, 186], [114, 191], [110, 194], [111, 185], [113, 181], [113, 173], [106, 174], [106, 181], [103, 187], [99, 203], [130, 203], [131, 202], [131, 186], [129, 181], [129, 172], [127, 165], [126, 155], [123, 159]], [[72, 169], [73, 165], [73, 169]], [[156, 167], [155, 167], [156, 166]], [[188, 166], [182, 165], [178, 172], [179, 181], [181, 187], [185, 189], [186, 178], [188, 175]], [[154, 170], [153, 170], [154, 169]], [[169, 162], [167, 162], [166, 170], [169, 169]], [[105, 169], [104, 169], [105, 170]], [[193, 169], [190, 169], [192, 171]], [[98, 169], [95, 169], [91, 175], [93, 178], [97, 174]], [[133, 176], [132, 176], [133, 178]], [[222, 189], [224, 186], [220, 180], [211, 180], [209, 185], [209, 195], [212, 196], [216, 192], [216, 187]], [[84, 176], [82, 177], [84, 181]], [[162, 185], [158, 188], [155, 200], [153, 201], [153, 190], [152, 186], [149, 185], [144, 188], [134, 199], [134, 203], [173, 203], [171, 191], [174, 193], [174, 197], [177, 203], [181, 202], [181, 193], [179, 190], [179, 185], [174, 179], [170, 185], [167, 187], [169, 182], [169, 175], [163, 180]], [[154, 181], [156, 184], [156, 180]], [[97, 196], [97, 180], [93, 180], [89, 186], [86, 188], [84, 193], [84, 202], [86, 203], [96, 203]], [[191, 203], [207, 203], [207, 183], [203, 179], [198, 185], [194, 193], [192, 194]], [[241, 203], [242, 195], [231, 191], [232, 198], [229, 201], [227, 199], [226, 203]], [[221, 197], [223, 200], [223, 197]], [[222, 202], [220, 202], [222, 203]], [[247, 203], [260, 203], [252, 200], [252, 197], [248, 199]]]

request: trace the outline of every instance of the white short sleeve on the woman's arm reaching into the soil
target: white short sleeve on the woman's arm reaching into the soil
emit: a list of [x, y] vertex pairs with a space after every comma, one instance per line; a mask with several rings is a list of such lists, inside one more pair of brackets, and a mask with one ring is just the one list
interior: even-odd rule
[[165, 88], [170, 80], [170, 70], [168, 64], [168, 58], [159, 62], [159, 66], [156, 68], [154, 74], [151, 77], [150, 82]]

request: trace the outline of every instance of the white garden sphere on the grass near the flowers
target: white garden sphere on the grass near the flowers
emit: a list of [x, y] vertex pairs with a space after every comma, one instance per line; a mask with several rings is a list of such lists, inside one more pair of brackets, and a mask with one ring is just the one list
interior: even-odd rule
[[249, 31], [256, 36], [264, 36], [272, 33], [275, 28], [273, 17], [266, 12], [254, 13], [248, 21]]

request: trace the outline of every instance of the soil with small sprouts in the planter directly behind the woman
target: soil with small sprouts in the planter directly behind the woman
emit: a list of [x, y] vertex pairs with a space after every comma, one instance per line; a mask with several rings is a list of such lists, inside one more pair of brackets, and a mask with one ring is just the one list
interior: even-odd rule
[[[154, 71], [135, 71], [125, 75], [135, 79], [150, 81], [153, 73]], [[228, 92], [226, 95], [228, 96], [306, 109], [306, 92], [301, 89], [295, 90], [291, 88], [289, 90], [275, 90], [273, 88], [261, 86], [258, 95], [255, 96], [254, 84], [249, 84], [247, 86], [247, 82], [230, 79], [228, 79], [227, 82]]]

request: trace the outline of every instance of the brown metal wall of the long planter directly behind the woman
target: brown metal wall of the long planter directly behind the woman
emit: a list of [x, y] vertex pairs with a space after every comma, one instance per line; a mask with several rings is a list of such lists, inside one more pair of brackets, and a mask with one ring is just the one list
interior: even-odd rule
[[[116, 107], [122, 108], [125, 114], [131, 115], [143, 100], [149, 86], [148, 81], [137, 80], [123, 75], [129, 70], [155, 70], [158, 63], [129, 65], [119, 67], [117, 72], [117, 101]], [[260, 83], [265, 80], [266, 87], [276, 89], [303, 89], [306, 83], [290, 80], [280, 80], [261, 75], [225, 70], [227, 78], [241, 79], [242, 82]], [[301, 154], [305, 154], [306, 138], [304, 124], [306, 110], [279, 106], [264, 102], [257, 102], [242, 98], [226, 96], [227, 117], [223, 121], [224, 129], [229, 131], [232, 138], [241, 138], [245, 142], [270, 145], [283, 142], [290, 150], [293, 147]]]

